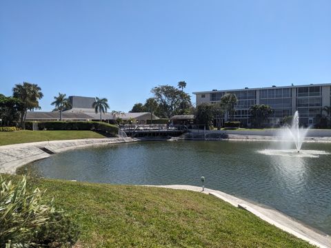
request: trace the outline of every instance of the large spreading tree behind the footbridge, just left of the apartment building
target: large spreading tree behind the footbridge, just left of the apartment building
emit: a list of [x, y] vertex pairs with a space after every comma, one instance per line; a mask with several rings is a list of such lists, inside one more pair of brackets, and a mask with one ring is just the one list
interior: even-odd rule
[[159, 114], [163, 118], [171, 118], [174, 114], [183, 114], [192, 106], [190, 95], [170, 85], [159, 85], [151, 92], [159, 104]]

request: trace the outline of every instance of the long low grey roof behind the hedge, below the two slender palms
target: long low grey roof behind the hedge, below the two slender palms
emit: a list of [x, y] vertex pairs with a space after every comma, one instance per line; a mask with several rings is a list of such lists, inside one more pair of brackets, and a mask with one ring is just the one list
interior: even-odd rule
[[[26, 120], [57, 120], [60, 118], [60, 112], [27, 112]], [[88, 120], [91, 116], [84, 113], [65, 113], [62, 112], [63, 120]]]

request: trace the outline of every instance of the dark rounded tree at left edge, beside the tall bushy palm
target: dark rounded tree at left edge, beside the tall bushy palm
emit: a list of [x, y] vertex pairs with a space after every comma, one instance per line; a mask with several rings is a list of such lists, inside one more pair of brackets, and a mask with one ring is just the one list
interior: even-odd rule
[[1, 125], [14, 125], [19, 121], [19, 113], [23, 107], [21, 100], [12, 96], [0, 94], [0, 118]]

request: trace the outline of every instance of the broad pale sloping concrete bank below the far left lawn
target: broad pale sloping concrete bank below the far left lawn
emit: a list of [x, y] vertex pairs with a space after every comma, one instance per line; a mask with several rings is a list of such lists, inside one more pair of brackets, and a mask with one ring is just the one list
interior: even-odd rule
[[67, 141], [42, 141], [0, 146], [0, 173], [14, 174], [18, 167], [41, 158], [50, 153], [65, 152], [81, 147], [109, 145], [139, 141], [135, 138], [86, 138]]

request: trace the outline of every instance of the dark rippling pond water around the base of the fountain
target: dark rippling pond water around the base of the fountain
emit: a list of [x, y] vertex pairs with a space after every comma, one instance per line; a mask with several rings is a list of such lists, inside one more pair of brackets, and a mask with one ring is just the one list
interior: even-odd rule
[[268, 205], [331, 234], [331, 145], [304, 143], [303, 154], [310, 150], [314, 156], [283, 156], [274, 152], [277, 146], [252, 141], [126, 143], [55, 154], [27, 168], [47, 178], [134, 185], [201, 186], [205, 176], [205, 187]]

